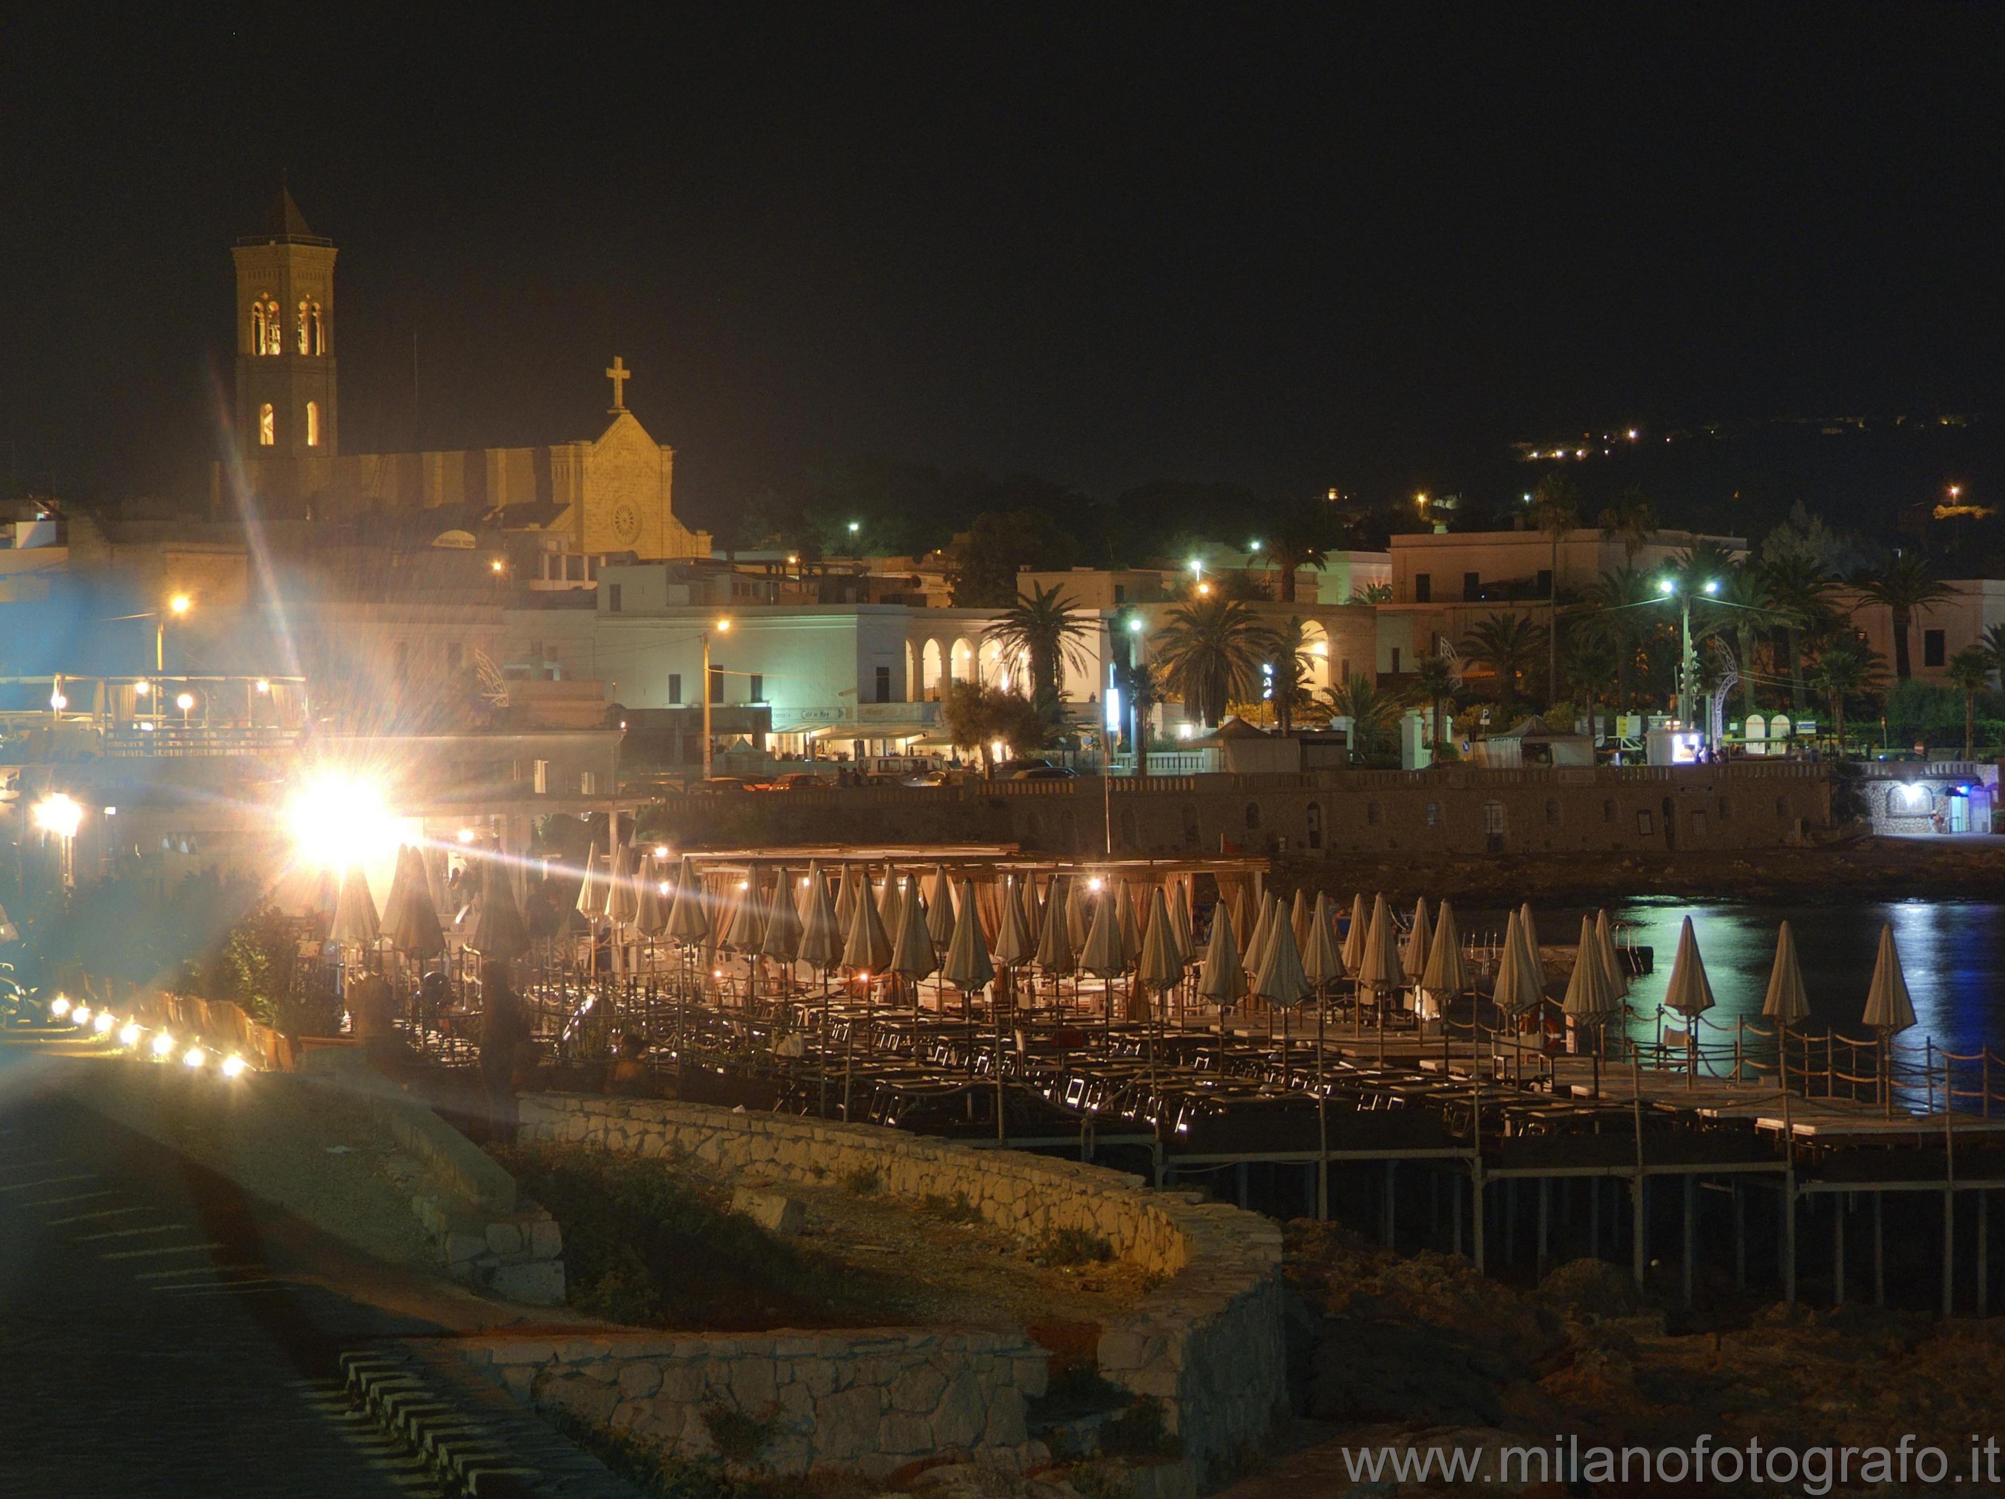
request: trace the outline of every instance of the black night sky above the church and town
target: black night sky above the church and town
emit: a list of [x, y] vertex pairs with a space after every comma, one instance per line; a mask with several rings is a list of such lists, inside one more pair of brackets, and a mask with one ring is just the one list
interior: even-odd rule
[[345, 447], [413, 441], [413, 333], [427, 445], [595, 431], [618, 351], [704, 518], [856, 452], [1391, 494], [1997, 405], [1997, 6], [22, 16], [22, 486], [205, 488], [281, 173], [341, 245]]

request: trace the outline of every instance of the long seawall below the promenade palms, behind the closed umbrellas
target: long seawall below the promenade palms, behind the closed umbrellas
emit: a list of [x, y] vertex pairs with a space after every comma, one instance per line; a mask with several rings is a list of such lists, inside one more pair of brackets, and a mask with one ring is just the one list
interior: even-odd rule
[[[1111, 795], [1109, 795], [1111, 793]], [[1021, 843], [1101, 853], [1432, 855], [1772, 849], [1831, 825], [1831, 775], [1807, 761], [1484, 771], [1303, 771], [992, 781], [962, 787], [670, 797], [666, 831], [734, 845]]]

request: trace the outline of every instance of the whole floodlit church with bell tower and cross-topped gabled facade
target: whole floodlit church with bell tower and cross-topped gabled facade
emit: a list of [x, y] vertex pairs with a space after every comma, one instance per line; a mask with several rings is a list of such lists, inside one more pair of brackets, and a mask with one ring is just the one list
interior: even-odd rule
[[[545, 576], [587, 560], [708, 558], [710, 534], [676, 518], [676, 449], [626, 405], [632, 371], [614, 359], [608, 425], [543, 447], [425, 454], [341, 452], [335, 379], [335, 245], [281, 191], [263, 235], [237, 241], [237, 454], [217, 464], [211, 502], [233, 486], [271, 516], [343, 522], [439, 512], [451, 544], [469, 526], [533, 536]], [[459, 542], [465, 546], [467, 542]], [[591, 566], [591, 572], [597, 568]]]

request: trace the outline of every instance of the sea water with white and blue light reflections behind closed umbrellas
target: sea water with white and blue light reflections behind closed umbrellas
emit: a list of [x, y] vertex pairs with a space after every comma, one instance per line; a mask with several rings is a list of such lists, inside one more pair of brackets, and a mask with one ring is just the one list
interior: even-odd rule
[[[1654, 1015], [1670, 983], [1670, 959], [1678, 951], [1684, 917], [1692, 917], [1698, 955], [1712, 981], [1718, 1007], [1710, 1017], [1728, 1025], [1734, 1015], [1760, 1015], [1774, 963], [1774, 933], [1786, 919], [1796, 931], [1802, 987], [1811, 995], [1811, 1029], [1837, 1025], [1853, 1035], [1871, 1035], [1859, 1015], [1873, 981], [1881, 925], [1893, 923], [1917, 1017], [1903, 1041], [1919, 1047], [1929, 1035], [1939, 1047], [1953, 1052], [1977, 1052], [1981, 1045], [2005, 1050], [2005, 903], [1917, 899], [1766, 905], [1646, 897], [1610, 905], [1608, 915], [1628, 925], [1636, 945], [1656, 949], [1656, 971], [1630, 985], [1628, 1003], [1638, 1011], [1630, 1029], [1638, 1037], [1656, 1029]], [[1534, 907], [1538, 937], [1548, 945], [1574, 943], [1580, 917], [1580, 907]], [[1502, 925], [1502, 911], [1472, 911], [1464, 919], [1470, 933], [1500, 931]]]

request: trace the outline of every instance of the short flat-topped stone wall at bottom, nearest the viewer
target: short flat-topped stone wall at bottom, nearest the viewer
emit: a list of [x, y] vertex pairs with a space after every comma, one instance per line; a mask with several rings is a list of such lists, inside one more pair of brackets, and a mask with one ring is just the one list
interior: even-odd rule
[[1025, 1429], [1047, 1355], [1021, 1332], [481, 1336], [449, 1348], [517, 1399], [686, 1457], [870, 1477], [938, 1453], [1019, 1471], [1049, 1457]]

